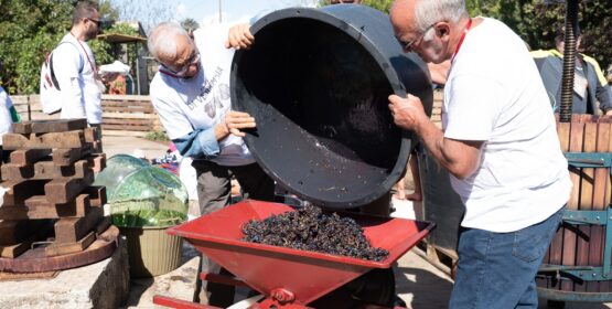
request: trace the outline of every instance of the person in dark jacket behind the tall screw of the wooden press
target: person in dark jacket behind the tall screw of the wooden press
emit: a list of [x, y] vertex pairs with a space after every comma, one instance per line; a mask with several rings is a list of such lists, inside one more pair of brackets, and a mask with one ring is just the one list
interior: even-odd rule
[[[577, 32], [580, 32], [578, 29]], [[580, 50], [582, 35], [578, 35], [577, 50]], [[558, 26], [555, 35], [555, 50], [533, 51], [532, 56], [538, 65], [544, 85], [555, 111], [561, 102], [561, 76], [563, 70], [565, 28]], [[573, 114], [612, 114], [612, 90], [597, 60], [582, 53], [576, 54], [573, 77]]]

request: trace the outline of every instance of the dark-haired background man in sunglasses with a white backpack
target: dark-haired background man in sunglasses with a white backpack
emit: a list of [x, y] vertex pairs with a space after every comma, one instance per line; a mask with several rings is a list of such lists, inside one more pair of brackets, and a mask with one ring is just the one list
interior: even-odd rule
[[[62, 119], [86, 118], [101, 140], [103, 78], [87, 44], [100, 31], [100, 14], [90, 1], [76, 4], [71, 31], [53, 51], [53, 67], [62, 96]], [[99, 149], [101, 151], [101, 147]]]

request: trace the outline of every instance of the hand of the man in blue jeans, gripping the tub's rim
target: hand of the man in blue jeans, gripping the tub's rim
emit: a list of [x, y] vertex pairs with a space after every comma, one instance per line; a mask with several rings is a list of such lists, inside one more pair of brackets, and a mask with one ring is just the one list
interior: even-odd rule
[[410, 94], [406, 98], [390, 95], [389, 110], [394, 122], [405, 130], [417, 131], [422, 120], [427, 119], [421, 99]]

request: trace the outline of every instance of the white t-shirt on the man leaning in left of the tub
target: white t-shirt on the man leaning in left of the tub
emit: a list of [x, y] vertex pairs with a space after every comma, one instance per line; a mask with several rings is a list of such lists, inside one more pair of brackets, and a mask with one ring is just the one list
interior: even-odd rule
[[[195, 129], [210, 129], [230, 110], [229, 76], [234, 50], [225, 49], [229, 28], [216, 25], [194, 32], [202, 66], [192, 78], [158, 72], [151, 82], [151, 102], [170, 139]], [[240, 137], [229, 135], [218, 142], [221, 153], [211, 161], [235, 167], [255, 162]]]

